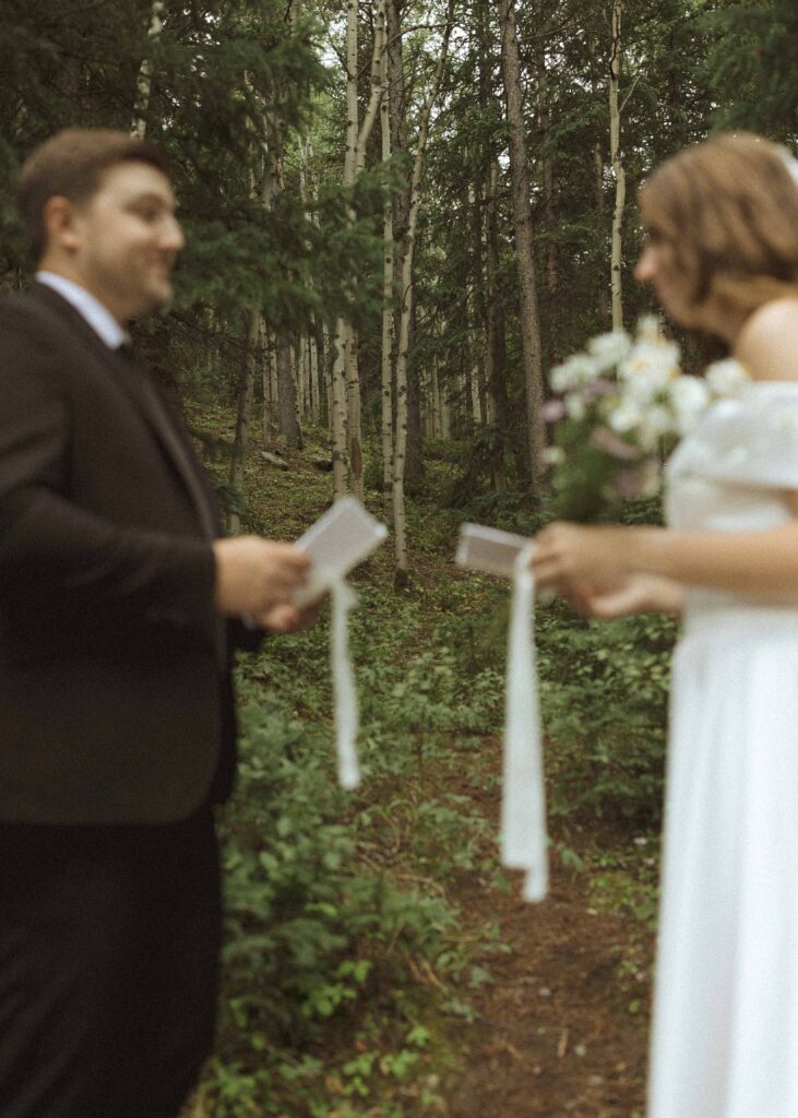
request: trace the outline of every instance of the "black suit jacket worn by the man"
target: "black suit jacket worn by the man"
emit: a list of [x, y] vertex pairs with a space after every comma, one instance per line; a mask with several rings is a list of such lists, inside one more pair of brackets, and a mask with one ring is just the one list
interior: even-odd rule
[[0, 301], [3, 821], [167, 823], [229, 792], [212, 495], [148, 377], [50, 288]]

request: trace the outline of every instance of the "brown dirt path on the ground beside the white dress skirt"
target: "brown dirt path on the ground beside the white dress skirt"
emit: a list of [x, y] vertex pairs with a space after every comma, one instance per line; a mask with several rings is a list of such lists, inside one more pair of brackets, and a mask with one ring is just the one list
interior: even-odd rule
[[[514, 878], [510, 896], [475, 883], [456, 898], [469, 922], [498, 920], [510, 953], [468, 992], [479, 1018], [464, 1032], [465, 1070], [444, 1084], [449, 1118], [642, 1116], [648, 1022], [617, 976], [625, 920], [596, 912], [586, 877], [555, 859], [542, 904], [523, 903]], [[642, 984], [633, 993], [647, 1004]]]

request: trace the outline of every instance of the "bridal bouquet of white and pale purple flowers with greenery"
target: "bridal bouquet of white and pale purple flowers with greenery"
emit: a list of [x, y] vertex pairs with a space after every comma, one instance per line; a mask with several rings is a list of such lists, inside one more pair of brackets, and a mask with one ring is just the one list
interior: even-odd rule
[[554, 426], [547, 451], [557, 513], [595, 520], [626, 498], [654, 496], [663, 463], [710, 404], [737, 395], [742, 366], [716, 361], [704, 377], [681, 372], [680, 350], [653, 316], [635, 337], [599, 334], [551, 371], [555, 398], [543, 406]]

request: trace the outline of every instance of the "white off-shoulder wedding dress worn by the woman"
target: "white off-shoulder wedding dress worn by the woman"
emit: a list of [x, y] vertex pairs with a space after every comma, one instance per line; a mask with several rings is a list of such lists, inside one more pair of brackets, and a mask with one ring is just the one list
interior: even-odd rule
[[[753, 382], [672, 456], [667, 520], [773, 528], [786, 489], [798, 383]], [[672, 694], [648, 1118], [798, 1118], [798, 587], [690, 590]]]

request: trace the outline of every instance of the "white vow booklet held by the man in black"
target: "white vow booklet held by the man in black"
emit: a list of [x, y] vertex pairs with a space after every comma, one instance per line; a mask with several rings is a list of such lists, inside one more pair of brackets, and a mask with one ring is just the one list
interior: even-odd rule
[[307, 584], [294, 594], [305, 606], [367, 559], [388, 536], [388, 529], [353, 496], [343, 496], [296, 541], [313, 561]]

